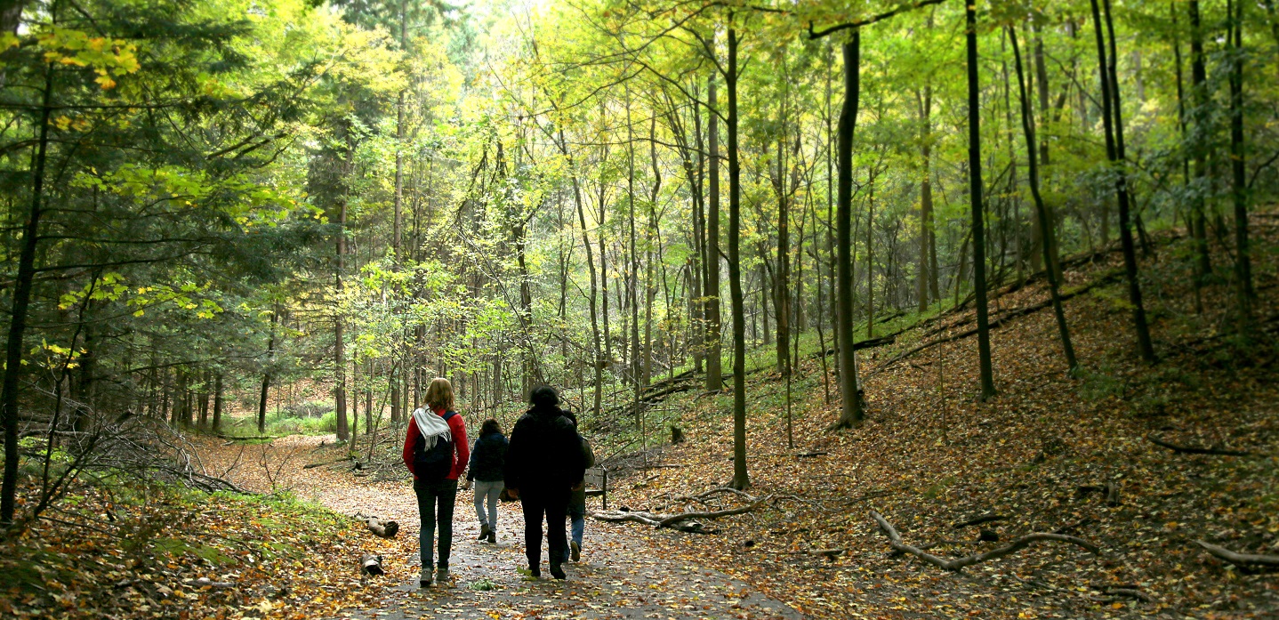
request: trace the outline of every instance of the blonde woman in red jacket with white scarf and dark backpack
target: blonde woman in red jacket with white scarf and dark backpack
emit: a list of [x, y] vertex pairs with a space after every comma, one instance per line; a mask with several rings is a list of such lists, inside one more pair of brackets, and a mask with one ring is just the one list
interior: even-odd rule
[[[422, 575], [418, 583], [426, 588], [431, 585], [432, 577], [445, 580], [449, 575], [453, 502], [458, 496], [458, 477], [467, 468], [471, 450], [467, 447], [467, 426], [462, 415], [453, 410], [453, 384], [443, 377], [432, 380], [423, 400], [426, 408], [413, 412], [408, 423], [404, 464], [413, 472], [417, 511], [422, 519]], [[439, 564], [432, 561], [431, 555], [436, 514], [440, 525]]]

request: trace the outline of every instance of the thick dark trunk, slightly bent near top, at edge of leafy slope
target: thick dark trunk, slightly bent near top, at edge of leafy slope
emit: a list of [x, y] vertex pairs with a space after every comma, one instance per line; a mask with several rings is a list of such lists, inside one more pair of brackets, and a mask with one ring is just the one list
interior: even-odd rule
[[861, 390], [853, 350], [853, 130], [861, 100], [861, 29], [853, 28], [844, 54], [844, 105], [839, 112], [838, 159], [839, 202], [835, 212], [835, 247], [839, 251], [835, 276], [835, 337], [839, 348], [839, 395], [843, 399], [835, 428], [862, 424]]

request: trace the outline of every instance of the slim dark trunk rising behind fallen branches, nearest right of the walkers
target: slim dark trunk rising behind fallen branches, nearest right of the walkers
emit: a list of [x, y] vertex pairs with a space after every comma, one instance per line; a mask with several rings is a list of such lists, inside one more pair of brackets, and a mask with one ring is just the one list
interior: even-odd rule
[[[732, 18], [729, 18], [732, 19]], [[737, 29], [728, 29], [728, 284], [733, 302], [733, 488], [751, 486], [746, 470], [746, 308], [742, 299], [742, 162], [737, 139]]]

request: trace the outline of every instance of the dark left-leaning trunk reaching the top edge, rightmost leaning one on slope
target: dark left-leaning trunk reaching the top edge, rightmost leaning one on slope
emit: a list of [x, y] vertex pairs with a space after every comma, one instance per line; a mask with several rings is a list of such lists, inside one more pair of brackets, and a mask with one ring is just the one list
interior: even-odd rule
[[1128, 302], [1132, 304], [1133, 327], [1137, 331], [1137, 352], [1147, 363], [1155, 363], [1155, 349], [1150, 341], [1150, 329], [1146, 325], [1146, 308], [1141, 300], [1141, 284], [1137, 280], [1137, 254], [1132, 239], [1132, 222], [1128, 206], [1128, 174], [1123, 144], [1123, 107], [1119, 98], [1119, 83], [1115, 70], [1114, 24], [1110, 20], [1110, 0], [1105, 0], [1105, 26], [1110, 32], [1110, 55], [1106, 55], [1105, 36], [1101, 31], [1101, 14], [1097, 0], [1091, 0], [1092, 19], [1097, 36], [1097, 61], [1101, 69], [1101, 115], [1106, 132], [1106, 157], [1115, 166], [1115, 194], [1119, 202], [1119, 243], [1123, 248], [1124, 274], [1128, 280]]

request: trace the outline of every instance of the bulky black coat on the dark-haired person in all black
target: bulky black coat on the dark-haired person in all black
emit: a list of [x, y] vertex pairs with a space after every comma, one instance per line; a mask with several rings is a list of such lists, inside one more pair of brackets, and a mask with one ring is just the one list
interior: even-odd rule
[[506, 488], [568, 491], [582, 482], [582, 437], [558, 408], [533, 408], [510, 431]]

